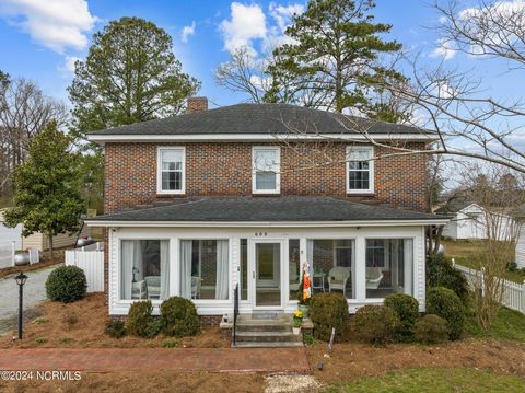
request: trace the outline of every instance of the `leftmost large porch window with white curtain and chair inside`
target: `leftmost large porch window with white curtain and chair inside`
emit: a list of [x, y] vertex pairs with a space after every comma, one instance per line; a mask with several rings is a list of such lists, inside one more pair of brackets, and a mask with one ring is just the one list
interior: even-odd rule
[[120, 251], [121, 299], [168, 298], [170, 242], [167, 240], [122, 240]]

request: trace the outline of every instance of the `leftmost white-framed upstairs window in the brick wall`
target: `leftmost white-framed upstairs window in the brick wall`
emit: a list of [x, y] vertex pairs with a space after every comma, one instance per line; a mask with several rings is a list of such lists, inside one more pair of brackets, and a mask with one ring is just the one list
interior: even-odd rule
[[186, 190], [186, 149], [160, 147], [156, 154], [158, 194], [184, 194]]

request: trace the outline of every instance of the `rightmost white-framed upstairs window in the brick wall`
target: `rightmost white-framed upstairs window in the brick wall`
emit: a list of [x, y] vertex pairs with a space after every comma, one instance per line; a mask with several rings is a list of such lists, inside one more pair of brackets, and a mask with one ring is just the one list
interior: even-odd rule
[[347, 193], [372, 194], [374, 192], [374, 148], [347, 147]]

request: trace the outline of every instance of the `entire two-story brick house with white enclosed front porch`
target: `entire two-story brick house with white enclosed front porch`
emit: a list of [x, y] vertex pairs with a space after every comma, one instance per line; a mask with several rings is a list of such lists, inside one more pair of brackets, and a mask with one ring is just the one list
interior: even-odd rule
[[290, 313], [304, 266], [314, 291], [345, 293], [352, 313], [398, 292], [424, 311], [425, 227], [447, 222], [425, 212], [427, 157], [371, 161], [392, 150], [354, 127], [418, 149], [432, 134], [284, 104], [207, 105], [89, 136], [105, 148], [105, 215], [86, 222], [106, 228], [109, 314], [183, 296], [218, 322], [237, 284], [241, 313]]

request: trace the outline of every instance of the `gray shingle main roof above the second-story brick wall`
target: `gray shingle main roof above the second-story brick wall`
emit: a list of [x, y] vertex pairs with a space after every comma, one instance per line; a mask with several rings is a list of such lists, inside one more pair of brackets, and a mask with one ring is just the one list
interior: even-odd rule
[[[341, 124], [342, 123], [342, 124]], [[346, 127], [343, 126], [346, 125]], [[214, 109], [108, 128], [94, 135], [206, 135], [206, 134], [293, 134], [289, 127], [306, 134], [420, 134], [399, 124], [342, 116], [325, 111], [288, 104], [238, 104]], [[348, 127], [348, 128], [347, 128]]]

